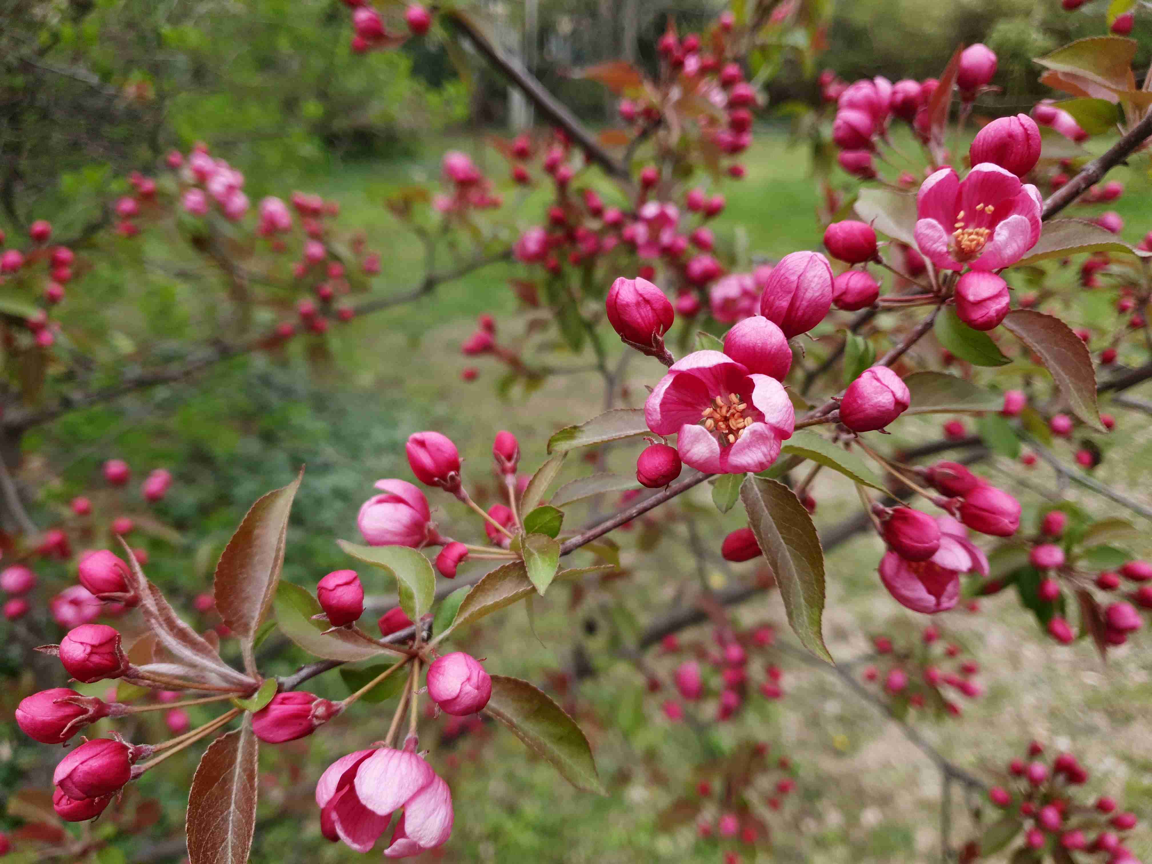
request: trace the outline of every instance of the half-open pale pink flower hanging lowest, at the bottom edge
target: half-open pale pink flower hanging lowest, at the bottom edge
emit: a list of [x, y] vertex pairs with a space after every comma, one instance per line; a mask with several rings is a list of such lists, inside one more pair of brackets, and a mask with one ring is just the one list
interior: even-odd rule
[[419, 855], [447, 842], [452, 834], [452, 793], [424, 759], [410, 750], [382, 746], [357, 750], [336, 759], [316, 785], [320, 831], [358, 852], [369, 851], [396, 823], [387, 858]]

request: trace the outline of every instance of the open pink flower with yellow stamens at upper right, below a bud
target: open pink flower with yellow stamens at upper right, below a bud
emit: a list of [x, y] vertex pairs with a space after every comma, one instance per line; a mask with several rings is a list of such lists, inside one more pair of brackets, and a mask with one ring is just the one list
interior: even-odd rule
[[1040, 192], [999, 165], [982, 162], [963, 181], [941, 168], [916, 196], [916, 245], [938, 267], [999, 270], [1040, 238]]

